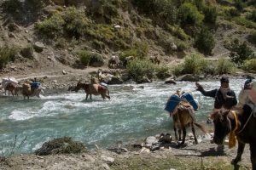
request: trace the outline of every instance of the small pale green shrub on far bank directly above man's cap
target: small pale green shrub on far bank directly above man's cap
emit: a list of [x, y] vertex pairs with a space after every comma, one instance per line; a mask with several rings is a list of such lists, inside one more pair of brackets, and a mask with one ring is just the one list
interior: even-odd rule
[[220, 58], [218, 59], [218, 65], [216, 72], [219, 75], [229, 74], [234, 71], [235, 65], [230, 61], [230, 59]]

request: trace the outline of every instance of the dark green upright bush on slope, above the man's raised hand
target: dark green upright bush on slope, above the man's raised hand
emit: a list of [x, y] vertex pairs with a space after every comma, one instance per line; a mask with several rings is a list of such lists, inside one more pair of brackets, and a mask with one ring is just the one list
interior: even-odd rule
[[215, 46], [214, 38], [211, 31], [207, 28], [201, 28], [201, 31], [195, 38], [195, 48], [203, 54], [212, 54], [212, 49]]

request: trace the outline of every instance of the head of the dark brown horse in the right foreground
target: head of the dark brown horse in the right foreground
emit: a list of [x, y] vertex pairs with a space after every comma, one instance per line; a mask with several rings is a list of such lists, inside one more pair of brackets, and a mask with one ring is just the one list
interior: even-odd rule
[[232, 127], [228, 117], [230, 111], [214, 111], [211, 118], [214, 123], [214, 137], [215, 144], [223, 144], [224, 138], [230, 133]]

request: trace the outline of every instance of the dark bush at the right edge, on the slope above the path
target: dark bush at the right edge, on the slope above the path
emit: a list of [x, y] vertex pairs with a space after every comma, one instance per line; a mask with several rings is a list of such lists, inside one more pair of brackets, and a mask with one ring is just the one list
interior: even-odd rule
[[247, 42], [239, 42], [235, 39], [228, 48], [231, 52], [230, 59], [237, 65], [242, 65], [244, 60], [254, 57], [253, 50], [247, 46]]

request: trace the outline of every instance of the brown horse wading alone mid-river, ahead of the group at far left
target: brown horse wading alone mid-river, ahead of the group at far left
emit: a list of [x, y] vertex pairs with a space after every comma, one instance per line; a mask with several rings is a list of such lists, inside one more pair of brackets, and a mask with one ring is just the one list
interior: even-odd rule
[[[88, 83], [82, 83], [79, 81], [77, 86], [75, 88], [73, 88], [73, 90], [75, 92], [78, 92], [80, 88], [84, 89], [84, 92], [86, 94], [86, 99], [88, 99], [89, 95], [90, 95], [90, 99], [91, 99], [91, 94], [94, 94], [94, 95], [101, 94], [102, 99], [106, 99], [106, 97], [108, 99], [110, 99], [108, 88], [106, 88], [100, 84], [96, 84], [96, 83], [88, 84]], [[108, 94], [107, 94], [107, 92], [108, 92]]]

